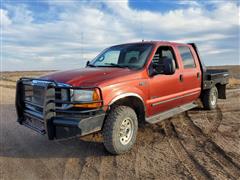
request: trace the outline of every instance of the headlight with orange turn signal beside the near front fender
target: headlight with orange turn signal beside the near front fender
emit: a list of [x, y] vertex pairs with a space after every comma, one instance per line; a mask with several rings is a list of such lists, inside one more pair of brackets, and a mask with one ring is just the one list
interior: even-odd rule
[[[75, 107], [97, 108], [101, 106], [100, 95], [96, 90], [71, 90], [71, 101], [80, 101], [81, 104], [75, 104]], [[86, 103], [84, 103], [86, 102]]]

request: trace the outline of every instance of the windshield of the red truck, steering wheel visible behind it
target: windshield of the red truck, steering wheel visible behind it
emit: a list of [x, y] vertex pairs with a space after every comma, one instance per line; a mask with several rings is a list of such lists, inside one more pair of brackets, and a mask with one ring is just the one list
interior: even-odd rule
[[99, 54], [89, 63], [89, 66], [140, 69], [144, 66], [151, 50], [152, 44], [113, 46]]

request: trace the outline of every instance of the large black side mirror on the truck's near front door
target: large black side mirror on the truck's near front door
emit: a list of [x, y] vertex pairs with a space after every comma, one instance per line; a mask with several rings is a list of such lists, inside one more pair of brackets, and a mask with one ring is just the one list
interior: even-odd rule
[[155, 76], [157, 74], [172, 75], [175, 73], [176, 66], [173, 59], [166, 56], [159, 59], [158, 62], [152, 63], [149, 68], [149, 75]]

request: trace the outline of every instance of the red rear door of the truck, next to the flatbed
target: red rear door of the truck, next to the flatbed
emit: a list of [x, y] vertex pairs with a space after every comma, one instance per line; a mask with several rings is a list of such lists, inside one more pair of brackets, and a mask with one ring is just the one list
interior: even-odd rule
[[201, 92], [201, 69], [197, 55], [189, 46], [177, 46], [178, 59], [181, 60], [182, 104], [196, 100]]

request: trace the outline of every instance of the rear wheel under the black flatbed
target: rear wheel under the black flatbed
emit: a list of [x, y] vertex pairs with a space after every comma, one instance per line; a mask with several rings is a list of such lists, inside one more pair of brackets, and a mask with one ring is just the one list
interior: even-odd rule
[[212, 110], [217, 107], [218, 90], [214, 86], [211, 89], [203, 92], [202, 103], [203, 107], [207, 110]]

